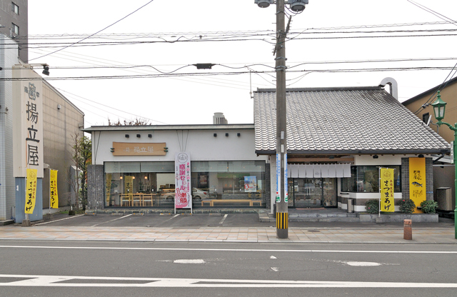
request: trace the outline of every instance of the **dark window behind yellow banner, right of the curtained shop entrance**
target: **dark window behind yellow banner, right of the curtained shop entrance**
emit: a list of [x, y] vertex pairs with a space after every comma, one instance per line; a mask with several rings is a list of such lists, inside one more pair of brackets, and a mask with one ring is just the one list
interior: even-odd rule
[[[401, 192], [401, 166], [395, 169], [395, 192]], [[379, 192], [379, 166], [351, 166], [351, 177], [341, 178], [341, 191], [358, 193]]]

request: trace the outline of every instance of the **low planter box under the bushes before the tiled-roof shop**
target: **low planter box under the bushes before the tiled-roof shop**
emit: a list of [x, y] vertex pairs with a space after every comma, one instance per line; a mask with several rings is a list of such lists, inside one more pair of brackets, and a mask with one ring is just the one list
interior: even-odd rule
[[403, 220], [411, 220], [413, 223], [438, 223], [438, 213], [358, 213], [361, 223], [403, 223]]

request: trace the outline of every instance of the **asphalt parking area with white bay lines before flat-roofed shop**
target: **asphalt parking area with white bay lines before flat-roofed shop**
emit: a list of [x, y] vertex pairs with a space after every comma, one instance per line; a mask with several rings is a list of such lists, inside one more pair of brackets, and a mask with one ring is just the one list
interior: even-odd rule
[[56, 227], [151, 227], [151, 228], [205, 228], [205, 227], [268, 227], [275, 223], [261, 223], [257, 213], [226, 213], [221, 216], [197, 213], [193, 216], [159, 213], [146, 213], [143, 216], [125, 214], [112, 216], [109, 213], [97, 213], [95, 216], [54, 214], [50, 220], [33, 223], [36, 226]]

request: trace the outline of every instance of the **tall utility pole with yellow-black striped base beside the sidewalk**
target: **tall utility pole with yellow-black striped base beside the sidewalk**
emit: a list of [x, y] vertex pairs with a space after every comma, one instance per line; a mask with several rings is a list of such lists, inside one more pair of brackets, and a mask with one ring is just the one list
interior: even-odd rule
[[276, 236], [288, 238], [286, 29], [284, 0], [276, 0]]

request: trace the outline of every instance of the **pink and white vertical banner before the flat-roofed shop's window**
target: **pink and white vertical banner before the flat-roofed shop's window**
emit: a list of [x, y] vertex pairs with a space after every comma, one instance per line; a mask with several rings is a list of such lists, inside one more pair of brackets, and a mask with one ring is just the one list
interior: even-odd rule
[[189, 153], [175, 155], [175, 208], [192, 208], [191, 156]]

